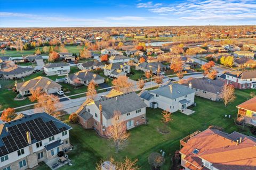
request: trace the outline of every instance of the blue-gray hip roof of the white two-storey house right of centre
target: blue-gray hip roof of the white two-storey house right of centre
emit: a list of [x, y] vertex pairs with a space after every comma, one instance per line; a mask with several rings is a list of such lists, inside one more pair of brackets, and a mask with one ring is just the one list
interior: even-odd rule
[[150, 91], [150, 93], [154, 93], [170, 99], [176, 99], [185, 95], [193, 94], [193, 92], [195, 92], [195, 90], [176, 83], [169, 83], [158, 89]]

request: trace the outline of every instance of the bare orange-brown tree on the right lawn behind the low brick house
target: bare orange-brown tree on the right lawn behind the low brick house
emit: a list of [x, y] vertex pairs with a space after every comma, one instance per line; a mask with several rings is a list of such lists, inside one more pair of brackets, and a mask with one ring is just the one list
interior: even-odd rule
[[227, 106], [228, 103], [231, 103], [236, 99], [235, 89], [230, 84], [225, 84], [221, 92], [222, 92], [222, 99], [225, 107]]

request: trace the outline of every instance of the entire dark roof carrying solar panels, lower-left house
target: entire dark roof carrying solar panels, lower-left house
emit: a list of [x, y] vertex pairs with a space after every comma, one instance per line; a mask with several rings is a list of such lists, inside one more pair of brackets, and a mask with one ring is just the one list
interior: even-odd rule
[[69, 129], [72, 128], [47, 113], [23, 114], [0, 125], [0, 157], [28, 146], [27, 132], [31, 142], [36, 143]]

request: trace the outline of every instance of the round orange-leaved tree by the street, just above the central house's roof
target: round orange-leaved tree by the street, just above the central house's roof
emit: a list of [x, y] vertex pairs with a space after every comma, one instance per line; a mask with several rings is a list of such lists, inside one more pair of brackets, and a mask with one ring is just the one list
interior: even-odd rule
[[128, 81], [126, 75], [120, 75], [117, 79], [112, 81], [114, 89], [122, 92], [129, 92], [132, 90], [133, 83]]

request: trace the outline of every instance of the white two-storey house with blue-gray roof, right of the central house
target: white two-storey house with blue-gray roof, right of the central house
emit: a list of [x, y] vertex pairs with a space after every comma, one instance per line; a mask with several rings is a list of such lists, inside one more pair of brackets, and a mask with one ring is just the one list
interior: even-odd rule
[[195, 90], [181, 84], [169, 83], [155, 90], [141, 91], [140, 98], [148, 107], [159, 107], [172, 113], [183, 112], [194, 104]]

